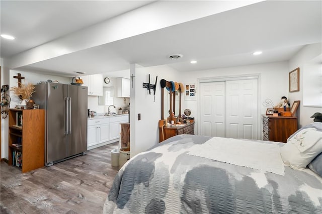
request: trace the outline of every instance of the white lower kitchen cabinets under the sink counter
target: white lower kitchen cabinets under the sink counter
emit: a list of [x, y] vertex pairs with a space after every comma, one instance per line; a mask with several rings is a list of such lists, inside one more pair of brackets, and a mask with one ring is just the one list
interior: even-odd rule
[[120, 138], [121, 123], [128, 123], [128, 115], [91, 119], [87, 128], [87, 148], [116, 142]]

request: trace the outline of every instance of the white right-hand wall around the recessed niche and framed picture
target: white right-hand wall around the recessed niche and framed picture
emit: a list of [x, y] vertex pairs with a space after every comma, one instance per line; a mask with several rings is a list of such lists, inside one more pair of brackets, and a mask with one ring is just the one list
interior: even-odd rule
[[297, 110], [297, 115], [299, 116], [299, 128], [312, 123], [313, 119], [310, 117], [314, 113], [322, 113], [321, 107], [303, 106], [303, 73], [305, 72], [304, 65], [319, 56], [322, 53], [321, 49], [322, 43], [307, 45], [302, 48], [294, 57], [292, 57], [288, 64], [289, 71], [294, 70], [297, 67], [300, 68], [300, 90], [288, 93], [288, 97], [291, 99], [291, 104], [294, 100], [301, 101], [300, 106]]

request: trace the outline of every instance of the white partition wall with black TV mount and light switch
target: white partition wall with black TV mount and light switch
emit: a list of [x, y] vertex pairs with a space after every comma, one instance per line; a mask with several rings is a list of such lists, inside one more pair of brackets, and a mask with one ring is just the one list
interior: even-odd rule
[[[176, 73], [176, 70], [168, 66], [137, 68], [135, 65], [131, 65], [130, 75], [135, 76], [133, 89], [131, 85], [130, 95], [131, 157], [159, 142], [158, 121], [161, 119], [160, 80], [172, 80]], [[152, 84], [154, 84], [157, 75], [155, 101], [153, 101], [153, 91], [148, 94], [148, 90], [142, 87], [143, 82], [148, 82], [149, 74]], [[140, 121], [137, 120], [138, 114], [141, 114]]]

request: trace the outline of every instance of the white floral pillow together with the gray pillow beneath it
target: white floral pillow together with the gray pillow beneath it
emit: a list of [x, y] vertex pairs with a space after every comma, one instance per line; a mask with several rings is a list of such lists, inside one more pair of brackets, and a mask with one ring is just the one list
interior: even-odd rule
[[314, 122], [295, 132], [281, 148], [281, 157], [293, 169], [308, 165], [322, 176], [322, 123]]

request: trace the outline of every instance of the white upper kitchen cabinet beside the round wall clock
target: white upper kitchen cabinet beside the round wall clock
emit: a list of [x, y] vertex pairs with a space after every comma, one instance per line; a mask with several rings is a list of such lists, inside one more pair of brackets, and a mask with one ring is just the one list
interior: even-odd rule
[[84, 86], [88, 87], [89, 96], [103, 96], [103, 75], [94, 74], [82, 76]]

